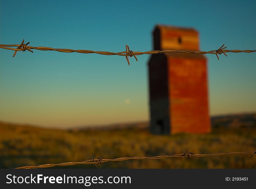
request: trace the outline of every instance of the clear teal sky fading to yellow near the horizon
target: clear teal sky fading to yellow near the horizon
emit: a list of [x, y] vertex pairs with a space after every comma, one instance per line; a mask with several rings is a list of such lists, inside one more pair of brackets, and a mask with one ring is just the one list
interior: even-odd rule
[[[152, 50], [156, 24], [193, 27], [200, 49], [256, 49], [256, 1], [3, 1], [0, 44]], [[147, 62], [0, 49], [0, 120], [47, 127], [149, 120]], [[256, 111], [256, 53], [208, 59], [210, 115]]]

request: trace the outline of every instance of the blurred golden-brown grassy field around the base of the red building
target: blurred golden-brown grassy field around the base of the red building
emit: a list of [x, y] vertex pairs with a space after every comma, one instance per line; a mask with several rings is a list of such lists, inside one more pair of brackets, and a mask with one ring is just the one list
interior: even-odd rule
[[[256, 129], [213, 129], [211, 134], [151, 135], [147, 128], [57, 130], [0, 123], [0, 168], [184, 153], [256, 151]], [[165, 158], [105, 162], [99, 168], [256, 168], [256, 157]], [[95, 168], [93, 165], [65, 168]]]

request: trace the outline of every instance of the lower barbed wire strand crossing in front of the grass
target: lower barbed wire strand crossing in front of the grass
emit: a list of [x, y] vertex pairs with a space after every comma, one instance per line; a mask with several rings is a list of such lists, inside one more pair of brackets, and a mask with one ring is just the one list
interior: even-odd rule
[[[249, 152], [229, 152], [229, 153], [214, 153], [214, 154], [194, 154], [189, 151], [186, 151], [186, 153], [183, 154], [174, 154], [174, 155], [159, 155], [159, 156], [153, 156], [153, 157], [144, 157], [144, 156], [137, 156], [137, 157], [120, 157], [115, 159], [103, 159], [102, 157], [98, 157], [95, 159], [89, 159], [83, 162], [66, 162], [66, 163], [58, 163], [58, 164], [44, 164], [44, 165], [38, 165], [38, 166], [23, 166], [18, 167], [16, 169], [32, 169], [32, 168], [49, 168], [54, 166], [71, 166], [71, 165], [77, 165], [77, 164], [103, 164], [104, 162], [118, 162], [118, 161], [126, 161], [126, 160], [139, 160], [139, 159], [162, 159], [167, 157], [180, 157], [180, 159], [186, 158], [190, 159], [191, 157], [209, 157], [209, 156], [222, 156], [222, 155], [237, 155], [237, 154], [246, 154], [251, 155], [251, 157], [256, 155], [256, 151], [249, 151]], [[97, 168], [97, 166], [96, 166]]]

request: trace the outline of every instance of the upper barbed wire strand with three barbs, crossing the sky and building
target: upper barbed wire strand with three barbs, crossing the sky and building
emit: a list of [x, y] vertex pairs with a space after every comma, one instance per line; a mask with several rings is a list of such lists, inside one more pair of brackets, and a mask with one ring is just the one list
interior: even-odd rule
[[[129, 46], [126, 45], [126, 50], [123, 52], [106, 52], [106, 51], [93, 51], [93, 50], [73, 50], [73, 49], [55, 49], [51, 47], [32, 47], [32, 46], [27, 46], [28, 43], [24, 43], [24, 39], [20, 45], [4, 45], [0, 44], [0, 48], [2, 49], [9, 49], [9, 50], [14, 50], [13, 57], [16, 55], [17, 51], [30, 51], [33, 53], [31, 49], [36, 49], [36, 50], [42, 50], [42, 51], [58, 51], [58, 52], [77, 52], [77, 53], [84, 53], [84, 54], [90, 54], [90, 53], [96, 53], [96, 54], [102, 54], [102, 55], [118, 55], [118, 56], [125, 56], [128, 62], [128, 65], [130, 65], [130, 61], [128, 56], [133, 57], [138, 61], [137, 55], [142, 55], [142, 54], [158, 54], [158, 53], [186, 53], [186, 54], [216, 54], [218, 60], [218, 54], [224, 54], [227, 56], [226, 53], [228, 52], [234, 52], [234, 53], [239, 53], [239, 52], [256, 52], [256, 50], [227, 50], [223, 47], [225, 44], [223, 44], [220, 48], [217, 50], [212, 50], [212, 51], [187, 51], [187, 50], [154, 50], [154, 51], [146, 51], [146, 52], [133, 52], [130, 50]], [[15, 48], [10, 48], [10, 47], [17, 47]]]

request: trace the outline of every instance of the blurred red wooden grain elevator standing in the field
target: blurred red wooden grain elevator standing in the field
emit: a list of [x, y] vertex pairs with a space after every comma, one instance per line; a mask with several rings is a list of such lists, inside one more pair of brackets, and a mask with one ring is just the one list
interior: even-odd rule
[[[199, 51], [199, 34], [192, 28], [157, 25], [153, 35], [154, 50]], [[154, 54], [148, 67], [151, 132], [210, 132], [205, 56]]]

